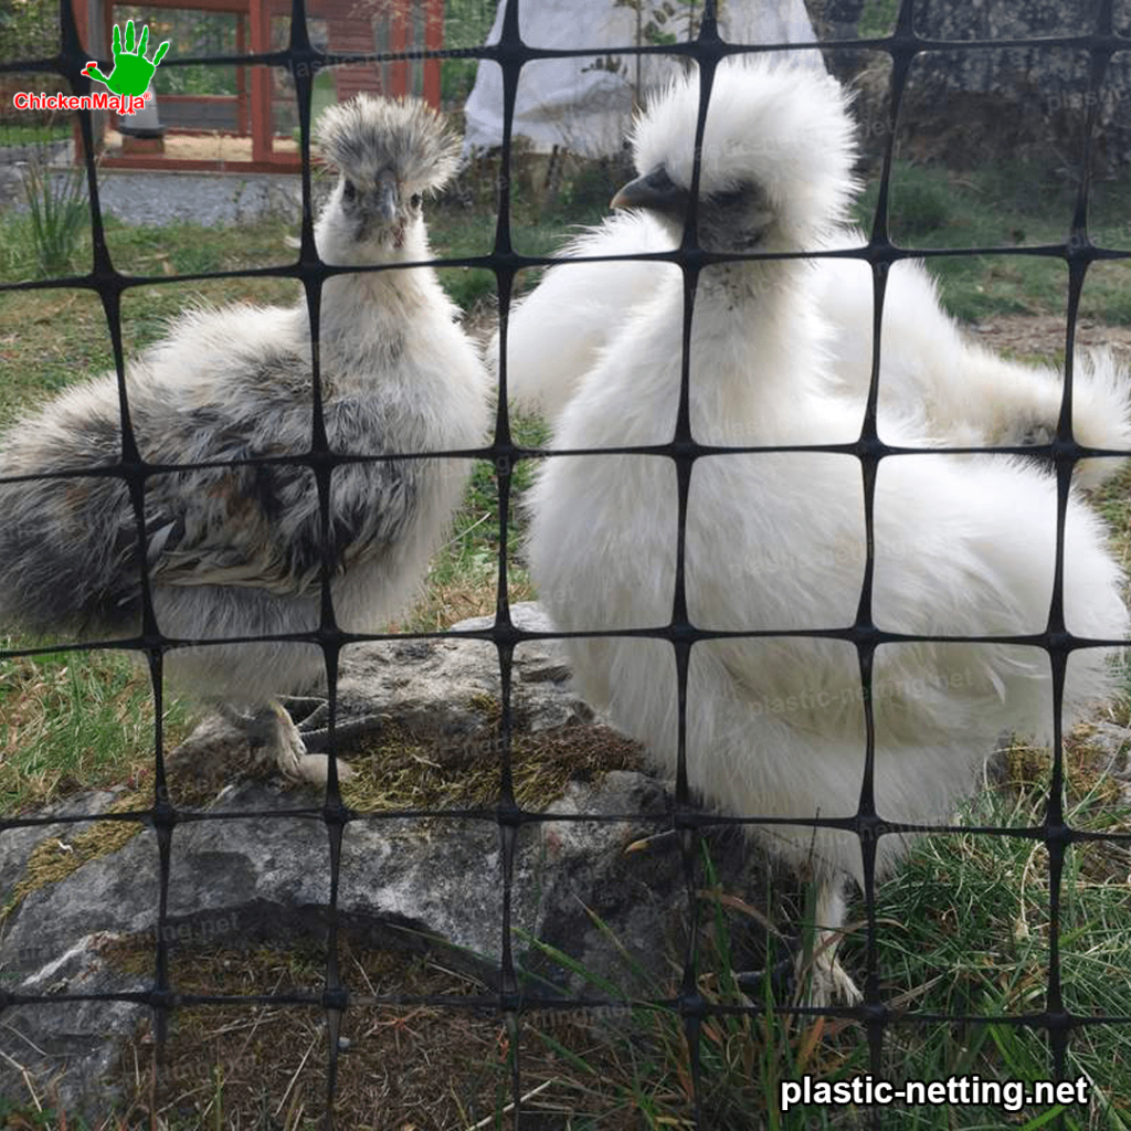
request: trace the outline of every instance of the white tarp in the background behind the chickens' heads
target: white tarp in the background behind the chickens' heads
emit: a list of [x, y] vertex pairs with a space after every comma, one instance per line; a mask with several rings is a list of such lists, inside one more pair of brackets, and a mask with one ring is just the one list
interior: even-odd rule
[[[671, 11], [663, 25], [676, 38], [688, 38], [688, 5], [683, 0], [641, 0], [645, 20]], [[507, 0], [499, 0], [487, 43], [498, 43]], [[803, 0], [724, 0], [719, 34], [728, 43], [812, 43], [817, 38]], [[702, 5], [694, 6], [698, 11]], [[535, 48], [593, 50], [595, 54], [528, 62], [519, 76], [515, 105], [516, 136], [536, 150], [555, 145], [596, 157], [618, 152], [632, 115], [637, 57], [610, 49], [637, 43], [637, 12], [615, 0], [521, 0], [519, 34]], [[644, 40], [645, 43], [649, 42]], [[819, 51], [789, 53], [791, 61], [821, 67]], [[680, 67], [671, 55], [640, 57], [641, 96]], [[502, 70], [481, 62], [465, 106], [465, 146], [502, 145]]]

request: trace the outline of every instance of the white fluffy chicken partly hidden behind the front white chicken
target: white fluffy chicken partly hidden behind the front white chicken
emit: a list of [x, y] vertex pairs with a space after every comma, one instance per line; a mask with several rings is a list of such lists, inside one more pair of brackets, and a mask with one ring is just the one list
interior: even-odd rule
[[[567, 258], [671, 251], [680, 235], [648, 211], [608, 217], [571, 240]], [[813, 250], [858, 248], [864, 236], [838, 230]], [[670, 269], [668, 269], [670, 270]], [[871, 268], [858, 259], [814, 259], [810, 299], [821, 316], [827, 382], [844, 400], [845, 432], [860, 433], [872, 374]], [[518, 303], [508, 330], [508, 392], [516, 407], [556, 420], [578, 383], [624, 319], [658, 291], [662, 265], [639, 260], [564, 264], [549, 270]], [[489, 359], [498, 369], [498, 335]], [[1008, 361], [972, 340], [947, 314], [922, 264], [901, 260], [889, 271], [880, 352], [879, 430], [921, 420], [923, 438], [952, 447], [1045, 444], [1055, 435], [1062, 374], [1047, 365]], [[1072, 373], [1072, 429], [1088, 448], [1131, 449], [1131, 373], [1111, 351], [1078, 349]], [[829, 437], [829, 442], [838, 439]], [[725, 439], [720, 439], [725, 442]], [[1079, 486], [1094, 487], [1123, 461], [1082, 459]]]

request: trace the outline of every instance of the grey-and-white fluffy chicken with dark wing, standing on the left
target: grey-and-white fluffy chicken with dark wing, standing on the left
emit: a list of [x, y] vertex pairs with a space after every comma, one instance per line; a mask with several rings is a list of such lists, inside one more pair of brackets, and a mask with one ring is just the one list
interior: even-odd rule
[[[452, 174], [459, 143], [415, 101], [360, 96], [318, 123], [340, 171], [316, 227], [335, 266], [425, 260], [422, 197]], [[340, 455], [458, 450], [482, 442], [486, 372], [428, 268], [346, 273], [323, 285], [320, 378]], [[301, 457], [311, 450], [313, 377], [305, 302], [197, 310], [127, 368], [133, 433], [149, 464]], [[0, 477], [80, 473], [121, 460], [112, 374], [78, 386], [3, 439]], [[329, 545], [313, 470], [299, 461], [157, 474], [145, 483], [146, 564], [157, 627], [216, 640], [314, 630], [323, 551], [338, 625], [380, 630], [418, 586], [459, 500], [451, 460], [335, 467]], [[126, 482], [113, 475], [0, 483], [0, 623], [129, 636], [141, 563]], [[321, 650], [286, 641], [175, 648], [182, 689], [258, 711], [290, 775], [325, 779], [274, 696], [309, 689]]]

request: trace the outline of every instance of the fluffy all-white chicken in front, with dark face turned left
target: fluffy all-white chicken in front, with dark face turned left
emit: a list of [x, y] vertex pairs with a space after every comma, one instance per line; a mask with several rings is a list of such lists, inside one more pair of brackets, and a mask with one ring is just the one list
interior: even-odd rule
[[[691, 77], [640, 120], [634, 148], [641, 176], [618, 195], [618, 202], [647, 208], [650, 219], [606, 225], [585, 238], [587, 250], [610, 233], [632, 240], [641, 232], [646, 239], [666, 232], [668, 245], [679, 239], [698, 101], [698, 80]], [[853, 191], [852, 123], [846, 97], [831, 79], [766, 63], [720, 69], [702, 153], [698, 215], [706, 249], [805, 250], [843, 231]], [[610, 292], [594, 293], [594, 301], [608, 294], [633, 302], [639, 295], [640, 301], [627, 316], [621, 311], [612, 331], [578, 335], [571, 356], [585, 371], [563, 374], [573, 394], [560, 412], [554, 446], [667, 442], [680, 392], [680, 273], [651, 265], [641, 283], [634, 265], [603, 269], [610, 278], [620, 275], [620, 290], [614, 283]], [[552, 291], [570, 268], [558, 270], [543, 288]], [[835, 388], [844, 377], [828, 354], [827, 301], [817, 273], [801, 260], [732, 261], [703, 270], [690, 346], [696, 439], [736, 446], [828, 443], [858, 432], [858, 417], [848, 418], [845, 397]], [[535, 292], [519, 320], [538, 303], [536, 309], [545, 309]], [[940, 319], [936, 304], [932, 310]], [[545, 339], [538, 356], [556, 361]], [[515, 363], [513, 354], [511, 361], [521, 385], [525, 366]], [[915, 379], [921, 372], [914, 370]], [[939, 372], [946, 375], [946, 360]], [[910, 392], [907, 397], [914, 399]], [[940, 398], [935, 422], [953, 407]], [[973, 404], [969, 412], [978, 426], [982, 407]], [[929, 448], [936, 442], [918, 412], [893, 408], [886, 431], [901, 443]], [[560, 629], [670, 623], [677, 526], [672, 460], [550, 458], [534, 487], [532, 510], [530, 569]], [[883, 460], [874, 503], [875, 625], [910, 637], [1043, 631], [1053, 593], [1055, 516], [1055, 480], [1031, 461], [943, 454]], [[864, 562], [864, 492], [855, 457], [725, 455], [693, 465], [684, 580], [689, 616], [699, 628], [846, 628], [856, 619]], [[1069, 630], [1083, 638], [1122, 639], [1129, 622], [1121, 580], [1102, 524], [1073, 494], [1065, 529]], [[624, 638], [570, 639], [566, 646], [581, 694], [673, 774], [671, 646]], [[1072, 655], [1067, 720], [1110, 692], [1110, 658], [1104, 649]], [[889, 821], [946, 822], [1003, 732], [1051, 732], [1048, 659], [1036, 648], [886, 644], [875, 654], [873, 687], [874, 800]], [[864, 709], [857, 655], [847, 641], [770, 636], [699, 642], [691, 651], [688, 705], [689, 782], [708, 802], [743, 817], [856, 813]], [[789, 824], [754, 828], [821, 880], [818, 916], [835, 931], [843, 922], [844, 879], [862, 880], [855, 834]], [[881, 875], [903, 851], [903, 838], [881, 838]], [[815, 996], [838, 990], [851, 998], [854, 987], [831, 961], [831, 951], [827, 956]]]

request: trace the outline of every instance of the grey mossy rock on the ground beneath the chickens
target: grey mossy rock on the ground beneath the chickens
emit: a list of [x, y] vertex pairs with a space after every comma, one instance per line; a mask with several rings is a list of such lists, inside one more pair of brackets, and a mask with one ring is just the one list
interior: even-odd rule
[[[530, 630], [549, 627], [534, 606], [517, 606], [513, 618]], [[481, 619], [456, 629], [490, 625]], [[593, 726], [592, 713], [568, 690], [567, 679], [553, 641], [517, 649], [516, 735], [573, 728], [581, 736]], [[377, 719], [380, 727], [387, 720], [438, 746], [493, 749], [487, 748], [497, 742], [491, 705], [499, 693], [498, 654], [489, 641], [389, 641], [343, 654], [344, 726]], [[208, 720], [179, 754], [198, 761], [211, 752], [223, 761], [245, 756], [245, 746], [238, 731]], [[74, 798], [67, 812], [96, 814], [110, 800]], [[225, 819], [185, 820], [174, 828], [167, 915], [159, 925], [170, 947], [325, 940], [330, 854], [321, 797], [236, 782], [207, 808], [210, 817]], [[556, 819], [524, 822], [515, 834], [511, 926], [520, 984], [532, 994], [599, 996], [599, 982], [555, 961], [554, 951], [561, 950], [623, 995], [668, 992], [672, 956], [683, 950], [688, 892], [675, 837], [656, 836], [666, 826], [664, 787], [646, 774], [613, 771], [571, 783], [549, 811]], [[576, 819], [586, 815], [618, 819]], [[431, 818], [424, 828], [377, 814], [349, 821], [339, 922], [363, 946], [440, 951], [444, 964], [498, 985], [509, 828], [493, 813]], [[10, 890], [18, 882], [37, 839], [66, 836], [68, 829], [0, 834], [0, 887]], [[625, 852], [642, 838], [651, 838], [647, 851]], [[718, 838], [713, 855], [741, 884], [741, 837]], [[118, 851], [32, 891], [9, 916], [0, 940], [0, 1000], [7, 992], [17, 1001], [0, 1018], [7, 1022], [0, 1025], [0, 1094], [23, 1097], [31, 1081], [64, 1110], [106, 1113], [114, 1093], [104, 1077], [147, 1007], [130, 1000], [53, 1004], [50, 998], [150, 988], [148, 979], [121, 968], [113, 944], [127, 941], [137, 951], [141, 943], [143, 953], [156, 955], [158, 897], [157, 838], [146, 828]], [[24, 995], [48, 1000], [19, 1001]]]

